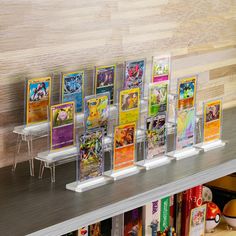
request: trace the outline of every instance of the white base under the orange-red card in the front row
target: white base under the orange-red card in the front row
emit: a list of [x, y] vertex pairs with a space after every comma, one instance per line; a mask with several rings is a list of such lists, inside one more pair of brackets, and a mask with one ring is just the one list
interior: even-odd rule
[[119, 180], [119, 179], [126, 178], [128, 176], [131, 176], [131, 175], [138, 174], [142, 170], [143, 168], [139, 166], [132, 166], [123, 170], [105, 172], [104, 174], [113, 178], [114, 180]]

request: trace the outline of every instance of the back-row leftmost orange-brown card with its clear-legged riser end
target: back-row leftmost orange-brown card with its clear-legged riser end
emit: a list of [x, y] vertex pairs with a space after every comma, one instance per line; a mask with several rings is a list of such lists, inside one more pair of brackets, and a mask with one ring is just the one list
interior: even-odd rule
[[[33, 140], [47, 136], [48, 109], [51, 103], [52, 78], [34, 78], [25, 80], [24, 88], [24, 124], [16, 126], [13, 133], [17, 134], [17, 150], [12, 170], [15, 171], [17, 157], [22, 141], [27, 142], [30, 175], [34, 176]], [[40, 107], [40, 109], [38, 109]]]

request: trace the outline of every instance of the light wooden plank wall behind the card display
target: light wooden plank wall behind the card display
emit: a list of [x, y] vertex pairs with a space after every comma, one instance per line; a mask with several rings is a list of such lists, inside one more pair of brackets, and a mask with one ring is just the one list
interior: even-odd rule
[[[236, 98], [235, 0], [1, 0], [0, 167], [15, 151], [15, 125], [23, 122], [24, 78], [52, 72], [54, 102], [59, 72], [87, 69], [153, 55], [173, 56], [176, 78], [199, 73], [198, 101]], [[118, 76], [121, 84], [122, 66]], [[200, 108], [199, 108], [200, 109]], [[35, 144], [35, 152], [45, 145]], [[27, 158], [23, 150], [21, 160]]]

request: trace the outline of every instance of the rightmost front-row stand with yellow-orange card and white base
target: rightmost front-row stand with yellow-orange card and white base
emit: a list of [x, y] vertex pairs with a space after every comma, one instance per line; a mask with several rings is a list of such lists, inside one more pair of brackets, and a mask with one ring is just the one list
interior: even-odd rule
[[201, 143], [195, 145], [205, 152], [215, 148], [224, 147], [226, 142], [222, 140], [222, 99], [209, 100], [203, 103]]

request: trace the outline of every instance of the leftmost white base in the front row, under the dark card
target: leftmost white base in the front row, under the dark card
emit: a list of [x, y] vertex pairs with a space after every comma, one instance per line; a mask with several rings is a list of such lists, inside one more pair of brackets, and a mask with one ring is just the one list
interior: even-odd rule
[[66, 189], [81, 193], [108, 184], [112, 181], [113, 180], [111, 178], [106, 176], [99, 176], [97, 178], [85, 180], [83, 182], [75, 181], [73, 183], [69, 183], [66, 185]]

